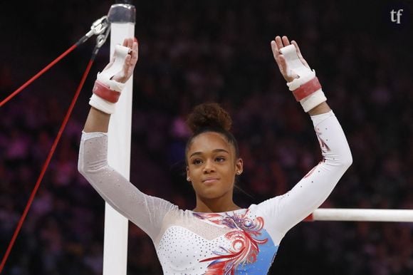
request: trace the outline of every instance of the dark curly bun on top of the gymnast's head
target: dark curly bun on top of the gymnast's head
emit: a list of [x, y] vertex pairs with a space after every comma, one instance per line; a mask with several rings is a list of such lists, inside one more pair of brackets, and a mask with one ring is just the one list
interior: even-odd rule
[[187, 125], [192, 133], [197, 133], [204, 128], [231, 129], [232, 119], [218, 103], [202, 103], [195, 106], [187, 119]]

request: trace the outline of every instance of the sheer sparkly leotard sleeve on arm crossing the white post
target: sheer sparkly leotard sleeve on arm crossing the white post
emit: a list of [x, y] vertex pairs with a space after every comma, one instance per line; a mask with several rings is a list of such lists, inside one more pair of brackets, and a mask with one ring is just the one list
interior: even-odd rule
[[83, 133], [78, 170], [117, 212], [145, 231], [152, 239], [160, 232], [164, 216], [176, 206], [140, 192], [108, 165], [108, 136]]

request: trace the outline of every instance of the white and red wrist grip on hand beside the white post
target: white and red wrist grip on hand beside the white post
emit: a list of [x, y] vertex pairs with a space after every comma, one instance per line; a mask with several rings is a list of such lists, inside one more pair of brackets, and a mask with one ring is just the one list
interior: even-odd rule
[[107, 70], [98, 73], [89, 105], [103, 113], [115, 113], [115, 103], [117, 103], [125, 83], [113, 81], [112, 78], [116, 73], [122, 71], [125, 58], [129, 52], [130, 48], [120, 45], [115, 46], [115, 53], [113, 53], [115, 61]]

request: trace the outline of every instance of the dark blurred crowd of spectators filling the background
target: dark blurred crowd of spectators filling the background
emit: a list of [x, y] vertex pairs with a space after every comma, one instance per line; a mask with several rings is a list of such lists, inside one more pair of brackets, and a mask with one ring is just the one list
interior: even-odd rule
[[[184, 177], [185, 117], [194, 105], [216, 101], [232, 115], [245, 165], [236, 202], [248, 207], [291, 189], [320, 161], [320, 149], [310, 118], [273, 61], [269, 43], [286, 34], [315, 68], [352, 150], [352, 167], [323, 207], [413, 209], [411, 25], [392, 24], [392, 6], [373, 3], [361, 1], [357, 8], [298, 0], [134, 3], [140, 60], [134, 76], [131, 182], [192, 209], [194, 193]], [[13, 54], [1, 51], [0, 100], [80, 38], [110, 4], [68, 1], [65, 11], [60, 2], [36, 4], [56, 8], [61, 17], [50, 9], [21, 11], [32, 16], [32, 26], [21, 36], [4, 30], [14, 41], [1, 46]], [[53, 21], [61, 25], [51, 26]], [[38, 33], [54, 28], [64, 37], [42, 41]], [[23, 43], [31, 53], [20, 51]], [[0, 108], [1, 256], [91, 47], [79, 48]], [[104, 202], [79, 175], [77, 157], [90, 89], [107, 59], [104, 46], [4, 274], [102, 274]], [[412, 223], [301, 222], [281, 242], [270, 274], [413, 274], [412, 232]], [[128, 251], [128, 274], [162, 274], [152, 242], [134, 225]]]

